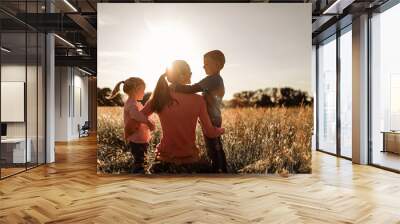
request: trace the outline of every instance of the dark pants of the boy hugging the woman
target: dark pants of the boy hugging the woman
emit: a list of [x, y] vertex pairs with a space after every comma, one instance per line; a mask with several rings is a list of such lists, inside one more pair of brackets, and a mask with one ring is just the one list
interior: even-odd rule
[[[221, 127], [222, 122], [212, 121], [212, 123], [215, 127]], [[206, 143], [207, 154], [211, 159], [213, 171], [218, 173], [227, 173], [226, 156], [221, 137], [208, 138], [207, 136], [204, 136], [204, 141]]]

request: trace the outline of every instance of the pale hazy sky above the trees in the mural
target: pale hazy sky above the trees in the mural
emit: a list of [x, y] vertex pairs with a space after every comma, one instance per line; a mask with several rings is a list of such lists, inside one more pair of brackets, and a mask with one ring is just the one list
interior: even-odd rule
[[185, 60], [192, 83], [205, 77], [203, 55], [219, 49], [224, 99], [267, 87], [311, 94], [311, 4], [98, 4], [98, 86], [129, 77], [153, 91], [174, 60]]

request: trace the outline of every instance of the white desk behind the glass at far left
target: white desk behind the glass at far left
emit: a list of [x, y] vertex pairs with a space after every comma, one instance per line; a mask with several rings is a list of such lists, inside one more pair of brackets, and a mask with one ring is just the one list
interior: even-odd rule
[[1, 139], [1, 157], [5, 160], [5, 163], [31, 162], [32, 140], [27, 138], [26, 142], [28, 143], [28, 147], [26, 147], [25, 153], [25, 138]]

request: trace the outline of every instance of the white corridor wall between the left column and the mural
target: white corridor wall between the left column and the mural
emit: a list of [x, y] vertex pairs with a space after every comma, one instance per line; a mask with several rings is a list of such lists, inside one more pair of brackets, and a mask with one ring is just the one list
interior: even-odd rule
[[55, 74], [55, 141], [77, 139], [78, 125], [88, 120], [88, 78], [72, 67], [56, 67]]

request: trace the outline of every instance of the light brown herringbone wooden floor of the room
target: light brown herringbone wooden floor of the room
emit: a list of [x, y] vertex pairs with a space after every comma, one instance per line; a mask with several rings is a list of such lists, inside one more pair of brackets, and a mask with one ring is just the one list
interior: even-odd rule
[[0, 181], [0, 223], [400, 223], [400, 175], [315, 152], [313, 174], [99, 176], [96, 142]]

